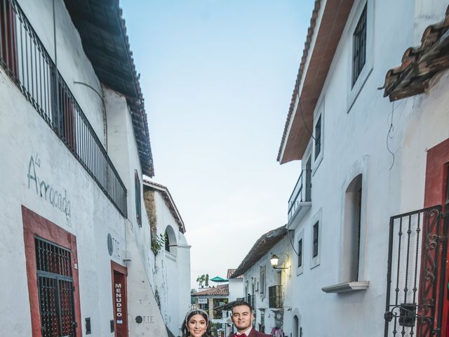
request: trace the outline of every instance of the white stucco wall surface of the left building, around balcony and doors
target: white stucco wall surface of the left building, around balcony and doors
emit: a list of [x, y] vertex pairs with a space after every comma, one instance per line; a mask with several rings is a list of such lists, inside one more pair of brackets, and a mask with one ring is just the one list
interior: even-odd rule
[[[52, 1], [20, 1], [25, 14], [52, 55]], [[73, 81], [84, 81], [98, 88], [98, 79], [83, 54], [78, 34], [63, 1], [57, 5], [58, 67], [76, 100], [91, 122], [98, 138], [104, 142], [101, 100], [96, 93]], [[0, 70], [0, 211], [4, 235], [0, 244], [2, 270], [11, 270], [1, 280], [7, 310], [2, 310], [1, 324], [7, 336], [31, 336], [30, 307], [25, 269], [25, 250], [21, 206], [38, 213], [76, 236], [79, 272], [81, 331], [85, 318], [91, 318], [92, 336], [113, 336], [109, 321], [113, 319], [111, 260], [128, 267], [128, 310], [130, 336], [151, 334], [166, 336], [165, 325], [150, 286], [153, 280], [154, 255], [150, 249], [149, 224], [142, 208], [142, 227], [135, 215], [134, 170], [141, 176], [140, 162], [133, 135], [130, 113], [121, 95], [105, 88], [107, 113], [111, 117], [109, 137], [119, 140], [109, 152], [128, 191], [128, 219], [123, 218], [100, 187], [67, 150], [45, 121], [25, 99], [11, 79]], [[117, 122], [118, 121], [118, 122]], [[115, 123], [114, 123], [115, 122]], [[39, 181], [38, 181], [39, 180]], [[65, 198], [65, 206], [53, 206], [50, 197], [40, 195], [39, 182], [45, 181]], [[37, 185], [36, 185], [37, 184]], [[141, 189], [142, 190], [142, 189]], [[37, 192], [36, 192], [37, 191]], [[142, 198], [142, 195], [140, 196]], [[68, 206], [68, 204], [70, 206]], [[143, 205], [143, 201], [141, 202]], [[113, 239], [109, 256], [107, 235]], [[126, 251], [130, 253], [126, 253]], [[130, 258], [126, 262], [123, 258]], [[144, 322], [138, 325], [136, 315]], [[148, 318], [145, 321], [145, 317]]]

